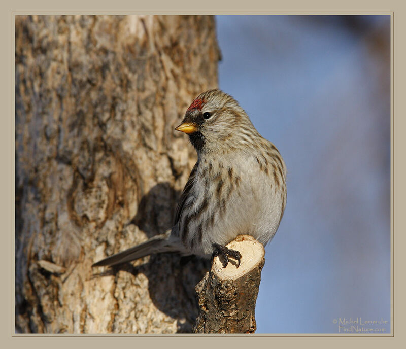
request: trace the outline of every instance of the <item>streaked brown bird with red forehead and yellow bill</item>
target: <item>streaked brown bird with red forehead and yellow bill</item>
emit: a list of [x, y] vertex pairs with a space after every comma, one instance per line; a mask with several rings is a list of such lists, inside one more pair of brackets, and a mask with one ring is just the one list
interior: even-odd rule
[[197, 162], [186, 182], [166, 232], [92, 267], [113, 266], [150, 254], [178, 252], [238, 261], [226, 245], [248, 234], [265, 246], [275, 235], [286, 207], [286, 165], [275, 145], [263, 138], [231, 95], [219, 90], [199, 94], [175, 128], [186, 133]]

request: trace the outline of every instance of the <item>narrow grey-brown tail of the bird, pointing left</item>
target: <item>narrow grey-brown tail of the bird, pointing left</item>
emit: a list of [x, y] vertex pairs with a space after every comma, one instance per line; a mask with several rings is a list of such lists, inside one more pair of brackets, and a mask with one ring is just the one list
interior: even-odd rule
[[170, 234], [171, 230], [168, 230], [164, 234], [151, 237], [149, 240], [140, 243], [140, 245], [131, 247], [128, 250], [116, 253], [113, 256], [94, 263], [92, 267], [112, 266], [120, 263], [130, 262], [134, 259], [142, 258], [154, 253], [176, 252], [179, 250], [179, 247], [168, 240]]

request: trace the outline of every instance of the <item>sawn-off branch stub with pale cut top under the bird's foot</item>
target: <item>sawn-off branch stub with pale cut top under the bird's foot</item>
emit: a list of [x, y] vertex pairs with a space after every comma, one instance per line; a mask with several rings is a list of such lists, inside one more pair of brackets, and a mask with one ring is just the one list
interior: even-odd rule
[[265, 250], [252, 236], [239, 235], [227, 247], [241, 253], [241, 265], [231, 261], [225, 269], [216, 258], [212, 269], [196, 286], [199, 316], [195, 333], [254, 333]]

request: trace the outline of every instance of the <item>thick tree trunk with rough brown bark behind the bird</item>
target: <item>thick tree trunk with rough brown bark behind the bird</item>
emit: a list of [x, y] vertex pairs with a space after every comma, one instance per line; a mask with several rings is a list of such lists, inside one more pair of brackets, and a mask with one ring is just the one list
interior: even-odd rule
[[171, 227], [218, 60], [211, 16], [16, 16], [17, 332], [191, 330], [208, 263], [90, 266]]

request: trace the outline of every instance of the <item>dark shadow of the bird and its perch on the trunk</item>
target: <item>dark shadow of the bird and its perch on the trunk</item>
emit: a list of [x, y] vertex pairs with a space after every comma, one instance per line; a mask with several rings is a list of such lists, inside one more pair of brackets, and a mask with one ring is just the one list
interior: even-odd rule
[[[154, 236], [172, 226], [179, 191], [167, 182], [154, 186], [141, 199], [139, 211], [131, 220], [148, 236]], [[168, 214], [171, 211], [171, 214]], [[177, 320], [178, 333], [190, 333], [198, 315], [195, 286], [210, 269], [210, 261], [196, 256], [180, 256], [177, 253], [152, 255], [147, 263], [133, 262], [113, 266], [94, 276], [117, 275], [120, 271], [136, 277], [143, 273], [148, 278], [149, 296], [154, 305], [166, 315]]]

